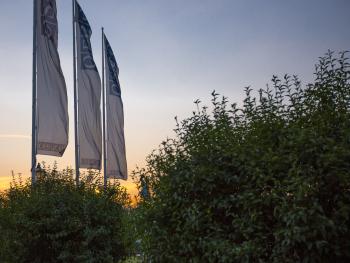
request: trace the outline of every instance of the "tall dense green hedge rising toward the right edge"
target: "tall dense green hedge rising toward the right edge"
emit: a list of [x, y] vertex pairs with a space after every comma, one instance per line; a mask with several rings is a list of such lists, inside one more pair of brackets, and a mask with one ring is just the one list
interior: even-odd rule
[[[246, 98], [212, 94], [134, 172], [152, 262], [350, 262], [350, 72], [329, 52]], [[146, 182], [146, 183], [145, 183]], [[143, 189], [143, 192], [144, 189]]]

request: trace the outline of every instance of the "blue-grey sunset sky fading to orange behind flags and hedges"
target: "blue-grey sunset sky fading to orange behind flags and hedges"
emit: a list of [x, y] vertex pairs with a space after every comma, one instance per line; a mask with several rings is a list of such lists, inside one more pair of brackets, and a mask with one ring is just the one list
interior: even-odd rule
[[[101, 72], [101, 26], [120, 68], [129, 174], [166, 137], [174, 117], [189, 116], [216, 90], [241, 102], [243, 89], [272, 75], [313, 80], [328, 49], [350, 50], [348, 0], [80, 0], [93, 30]], [[0, 0], [0, 189], [11, 171], [30, 175], [33, 1]], [[72, 10], [57, 0], [59, 54], [67, 83], [70, 137], [63, 157], [74, 167]], [[123, 183], [133, 193], [131, 180]]]

